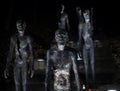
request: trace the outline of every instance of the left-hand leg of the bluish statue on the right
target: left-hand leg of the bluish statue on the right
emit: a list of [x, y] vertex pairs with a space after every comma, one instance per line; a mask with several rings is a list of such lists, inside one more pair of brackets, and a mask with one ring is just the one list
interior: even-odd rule
[[83, 61], [84, 61], [84, 67], [85, 67], [85, 77], [86, 82], [88, 82], [88, 50], [83, 47]]

